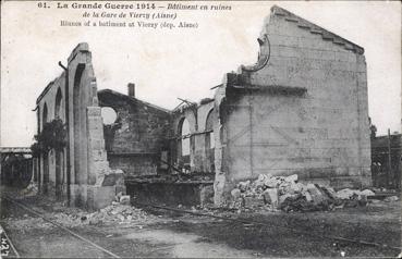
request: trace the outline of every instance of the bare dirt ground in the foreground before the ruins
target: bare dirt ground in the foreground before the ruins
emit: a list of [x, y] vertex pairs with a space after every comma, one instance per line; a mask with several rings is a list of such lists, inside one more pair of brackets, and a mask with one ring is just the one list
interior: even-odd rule
[[[15, 197], [15, 196], [13, 196]], [[85, 214], [42, 197], [20, 199], [47, 218]], [[400, 201], [369, 203], [331, 212], [214, 212], [259, 223], [145, 209], [147, 217], [131, 223], [64, 221], [83, 237], [119, 257], [395, 257], [399, 250], [328, 238], [340, 236], [401, 247]], [[209, 211], [210, 212], [210, 211]], [[61, 220], [60, 220], [61, 219]], [[83, 218], [82, 218], [83, 219]], [[22, 257], [110, 257], [89, 244], [1, 199], [1, 222]]]

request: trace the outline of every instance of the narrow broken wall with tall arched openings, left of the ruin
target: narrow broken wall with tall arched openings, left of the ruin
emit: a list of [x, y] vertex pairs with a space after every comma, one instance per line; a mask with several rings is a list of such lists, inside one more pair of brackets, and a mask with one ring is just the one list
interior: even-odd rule
[[62, 152], [50, 150], [40, 156], [38, 181], [46, 194], [66, 199], [72, 206], [97, 209], [114, 198], [118, 186], [110, 181], [106, 186], [103, 182], [114, 171], [107, 161], [96, 77], [87, 44], [80, 44], [72, 51], [64, 69], [37, 99], [38, 131], [44, 122], [59, 116], [70, 137]]

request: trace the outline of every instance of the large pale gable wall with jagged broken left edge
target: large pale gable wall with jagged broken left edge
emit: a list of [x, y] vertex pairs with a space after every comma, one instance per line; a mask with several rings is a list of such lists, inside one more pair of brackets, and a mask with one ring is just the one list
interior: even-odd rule
[[[257, 64], [241, 67], [236, 76], [237, 85], [224, 86], [221, 118], [227, 189], [260, 173], [297, 173], [302, 180], [334, 187], [370, 184], [362, 49], [273, 8], [264, 25]], [[292, 88], [306, 91], [297, 95]]]

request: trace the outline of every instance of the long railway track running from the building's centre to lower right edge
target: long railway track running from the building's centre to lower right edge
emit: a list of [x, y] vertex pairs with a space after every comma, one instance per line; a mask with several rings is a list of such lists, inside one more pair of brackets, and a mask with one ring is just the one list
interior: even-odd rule
[[142, 203], [142, 202], [135, 202], [135, 205], [137, 205], [139, 207], [149, 207], [149, 208], [155, 208], [155, 209], [162, 209], [162, 210], [168, 210], [168, 211], [174, 211], [174, 212], [179, 212], [179, 213], [188, 213], [188, 214], [194, 214], [194, 215], [199, 215], [199, 217], [210, 217], [210, 218], [215, 218], [215, 219], [220, 219], [220, 220], [226, 220], [226, 221], [231, 221], [231, 222], [236, 222], [236, 223], [243, 223], [243, 224], [252, 224], [252, 225], [277, 227], [277, 229], [282, 229], [282, 230], [287, 230], [287, 231], [293, 232], [295, 234], [307, 235], [307, 236], [312, 236], [312, 237], [316, 237], [316, 238], [325, 238], [325, 239], [330, 239], [330, 240], [336, 240], [336, 242], [343, 242], [343, 243], [350, 243], [350, 244], [358, 244], [358, 245], [363, 245], [363, 246], [373, 246], [373, 247], [388, 248], [388, 249], [395, 250], [398, 252], [401, 252], [402, 251], [402, 247], [390, 246], [388, 244], [366, 242], [366, 240], [362, 240], [362, 239], [352, 239], [352, 238], [345, 238], [345, 237], [334, 236], [334, 235], [322, 235], [322, 234], [319, 234], [319, 233], [295, 230], [294, 227], [289, 227], [289, 226], [283, 226], [283, 225], [277, 225], [277, 224], [269, 224], [267, 222], [260, 222], [260, 221], [255, 221], [255, 220], [249, 220], [249, 219], [244, 219], [244, 218], [221, 217], [221, 215], [215, 215], [215, 214], [195, 212], [195, 211], [190, 211], [190, 210], [181, 210], [181, 209], [175, 209], [175, 208], [170, 208], [170, 207], [148, 205], [148, 203]]

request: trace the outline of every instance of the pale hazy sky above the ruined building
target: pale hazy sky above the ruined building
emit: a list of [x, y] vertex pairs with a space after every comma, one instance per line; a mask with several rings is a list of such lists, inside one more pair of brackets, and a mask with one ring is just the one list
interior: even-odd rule
[[36, 98], [61, 74], [58, 62], [66, 64], [78, 42], [89, 44], [98, 89], [126, 94], [127, 83], [135, 83], [136, 97], [173, 109], [180, 102], [178, 97], [192, 101], [211, 97], [210, 88], [221, 84], [226, 73], [256, 62], [256, 39], [273, 4], [364, 47], [369, 116], [378, 135], [388, 128], [401, 132], [398, 1], [198, 3], [224, 4], [231, 10], [176, 11], [178, 21], [197, 23], [196, 29], [62, 27], [61, 20], [86, 21], [84, 11], [57, 9], [56, 3], [44, 9], [35, 1], [2, 1], [0, 145], [31, 146]]

